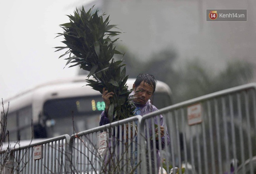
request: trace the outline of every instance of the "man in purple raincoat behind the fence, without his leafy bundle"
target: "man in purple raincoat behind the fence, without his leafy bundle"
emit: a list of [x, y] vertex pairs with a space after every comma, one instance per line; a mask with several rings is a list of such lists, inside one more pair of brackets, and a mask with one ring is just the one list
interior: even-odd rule
[[[152, 96], [152, 94], [155, 92], [156, 90], [156, 79], [153, 75], [149, 75], [149, 74], [144, 74], [141, 73], [138, 75], [138, 77], [136, 78], [134, 84], [133, 84], [133, 92], [130, 94], [130, 96], [133, 95], [134, 99], [134, 105], [136, 107], [135, 109], [135, 115], [145, 115], [147, 113], [150, 113], [152, 111], [157, 111], [158, 109], [152, 105], [150, 103], [150, 97]], [[109, 106], [111, 104], [110, 102], [110, 98], [113, 97], [114, 92], [108, 92], [106, 89], [103, 89], [103, 94], [102, 94], [102, 98], [106, 104], [105, 107], [105, 111], [102, 112], [101, 114], [101, 118], [100, 118], [100, 126], [102, 125], [106, 125], [108, 123], [110, 123], [111, 121], [109, 120], [109, 116], [108, 116], [108, 110], [109, 110]], [[169, 144], [170, 143], [170, 136], [168, 135], [166, 126], [164, 125], [164, 118], [163, 116], [160, 114], [159, 115], [160, 119], [157, 118], [157, 116], [154, 118], [154, 124], [156, 125], [160, 125], [160, 133], [161, 133], [161, 145], [162, 145], [162, 149], [165, 147], [164, 144], [164, 139], [167, 138], [166, 142]], [[158, 123], [157, 120], [160, 120], [160, 122]], [[149, 120], [150, 122], [150, 120]], [[147, 125], [151, 125], [151, 123], [147, 123]], [[151, 127], [149, 128], [149, 132], [150, 134], [152, 134], [152, 130], [150, 130]], [[166, 131], [166, 137], [164, 136], [164, 131]], [[159, 143], [158, 143], [158, 130], [157, 128], [155, 129], [156, 132], [156, 163], [157, 163], [157, 171], [160, 167], [160, 159], [161, 157], [159, 156]], [[152, 136], [152, 135], [149, 135]], [[167, 145], [168, 145], [167, 144]], [[153, 141], [150, 142], [150, 148], [151, 148], [151, 166], [154, 166], [154, 153], [152, 151], [153, 149]], [[147, 156], [147, 163], [149, 163], [148, 161], [149, 157]], [[152, 169], [152, 173], [154, 173], [154, 168], [151, 167]]]

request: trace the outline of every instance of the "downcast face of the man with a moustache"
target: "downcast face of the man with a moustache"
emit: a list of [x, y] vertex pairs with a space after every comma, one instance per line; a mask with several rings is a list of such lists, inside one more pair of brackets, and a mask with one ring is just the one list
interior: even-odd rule
[[[137, 86], [137, 88], [135, 88], [135, 84], [133, 84], [133, 88], [135, 91], [134, 97], [137, 97], [133, 99], [135, 103], [146, 104], [146, 102], [153, 94], [153, 87], [151, 87], [147, 83], [144, 83], [144, 81], [142, 81], [140, 85]], [[136, 92], [138, 90], [140, 91]]]

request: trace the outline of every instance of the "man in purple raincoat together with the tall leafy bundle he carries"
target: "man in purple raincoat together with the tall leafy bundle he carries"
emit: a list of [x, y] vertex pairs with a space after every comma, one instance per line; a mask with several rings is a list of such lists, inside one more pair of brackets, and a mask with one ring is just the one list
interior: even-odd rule
[[[106, 14], [99, 15], [98, 10], [94, 11], [92, 9], [93, 7], [86, 12], [82, 7], [80, 11], [78, 9], [74, 11], [74, 15], [67, 15], [69, 22], [60, 25], [63, 33], [58, 33], [57, 36], [64, 36], [64, 41], [62, 41], [64, 46], [55, 48], [57, 49], [56, 51], [67, 49], [59, 58], [67, 56], [65, 58], [67, 60], [66, 65], [71, 63], [73, 65], [69, 67], [80, 66], [81, 69], [88, 71], [86, 85], [102, 93], [106, 109], [102, 113], [100, 125], [129, 118], [133, 115], [139, 114], [143, 116], [156, 111], [157, 108], [150, 104], [149, 101], [156, 89], [156, 79], [152, 75], [140, 74], [133, 84], [134, 90], [128, 90], [126, 85], [128, 75], [126, 75], [125, 64], [122, 63], [123, 60], [114, 60], [114, 55], [124, 55], [116, 50], [116, 46], [114, 46], [119, 38], [112, 39], [112, 37], [117, 37], [121, 32], [116, 31], [116, 25], [109, 24], [109, 16], [104, 17]], [[93, 77], [93, 79], [89, 77]], [[150, 123], [150, 120], [148, 123]], [[161, 137], [161, 146], [164, 148], [165, 138], [167, 138], [166, 142], [169, 144], [170, 137], [164, 126], [163, 116], [160, 115], [159, 118], [154, 118], [154, 124], [159, 125], [160, 130], [158, 131], [156, 128], [155, 131], [152, 131], [152, 128], [149, 128], [150, 134], [152, 132], [161, 133], [159, 137]], [[165, 131], [167, 137], [164, 136]], [[156, 134], [156, 137], [154, 142], [157, 143], [154, 147], [156, 146], [157, 148], [156, 163], [159, 168], [158, 145], [160, 140], [158, 140], [158, 134]], [[116, 138], [119, 137], [117, 136]], [[152, 140], [150, 146], [153, 149]], [[132, 148], [136, 154], [137, 147]], [[154, 154], [152, 150], [150, 154], [151, 156]], [[154, 158], [151, 159], [151, 165], [154, 166]], [[133, 162], [136, 164], [136, 161]], [[154, 170], [154, 167], [152, 168]]]

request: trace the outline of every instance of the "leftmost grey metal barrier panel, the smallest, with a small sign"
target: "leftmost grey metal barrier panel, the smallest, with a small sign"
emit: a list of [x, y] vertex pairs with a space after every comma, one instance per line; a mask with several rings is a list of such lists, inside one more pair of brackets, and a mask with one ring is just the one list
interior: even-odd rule
[[9, 169], [5, 169], [4, 172], [12, 174], [66, 173], [67, 165], [69, 165], [67, 158], [69, 138], [69, 135], [62, 135], [22, 147], [19, 147], [17, 143], [16, 147], [10, 150], [8, 162], [12, 165], [7, 166]]

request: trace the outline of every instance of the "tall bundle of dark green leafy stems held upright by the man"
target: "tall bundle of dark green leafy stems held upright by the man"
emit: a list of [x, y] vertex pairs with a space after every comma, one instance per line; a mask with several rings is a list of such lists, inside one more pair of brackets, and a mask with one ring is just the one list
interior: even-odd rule
[[[66, 65], [74, 63], [69, 67], [80, 66], [83, 70], [89, 71], [87, 85], [102, 93], [106, 87], [108, 92], [114, 92], [110, 99], [109, 120], [112, 122], [128, 118], [134, 115], [135, 107], [129, 97], [132, 90], [128, 90], [126, 81], [125, 64], [122, 60], [114, 61], [115, 54], [124, 55], [116, 50], [114, 43], [119, 39], [111, 40], [121, 32], [110, 31], [117, 28], [116, 25], [109, 25], [109, 16], [104, 20], [105, 14], [98, 15], [98, 10], [92, 12], [93, 7], [85, 11], [84, 8], [74, 11], [74, 15], [67, 15], [70, 22], [61, 24], [64, 36], [62, 43], [66, 46], [55, 47], [56, 51], [67, 49], [61, 55], [68, 56]], [[89, 79], [92, 76], [94, 80]], [[114, 118], [113, 118], [114, 116]]]

